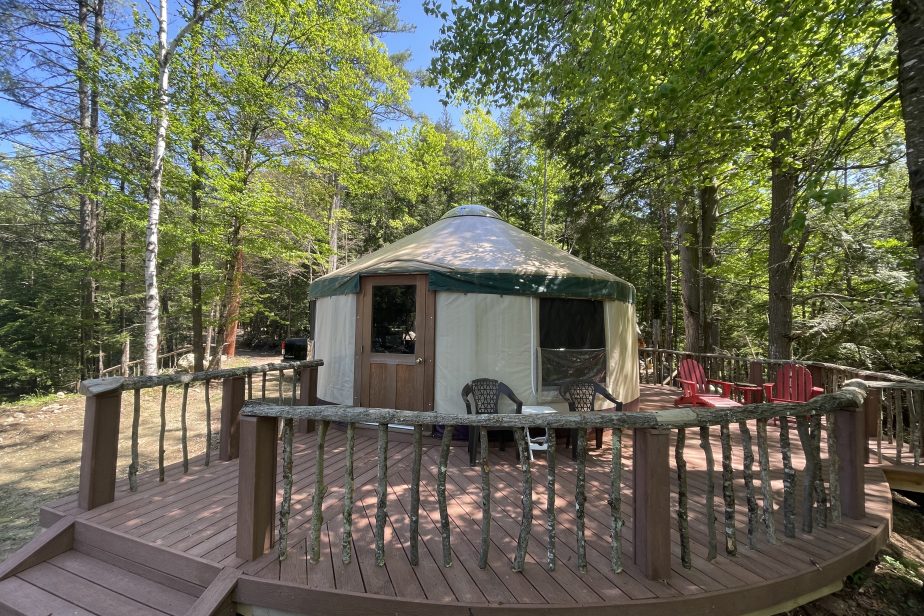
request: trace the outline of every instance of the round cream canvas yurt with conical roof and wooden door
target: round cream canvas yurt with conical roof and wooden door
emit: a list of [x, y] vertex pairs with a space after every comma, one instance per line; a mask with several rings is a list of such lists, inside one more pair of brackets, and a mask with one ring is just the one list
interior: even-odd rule
[[592, 378], [637, 407], [635, 288], [487, 207], [450, 210], [310, 295], [327, 403], [464, 414], [462, 388], [488, 377], [563, 410], [559, 384]]

